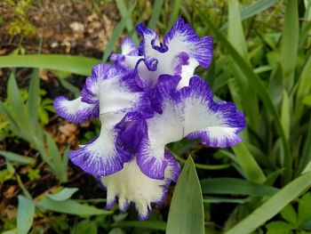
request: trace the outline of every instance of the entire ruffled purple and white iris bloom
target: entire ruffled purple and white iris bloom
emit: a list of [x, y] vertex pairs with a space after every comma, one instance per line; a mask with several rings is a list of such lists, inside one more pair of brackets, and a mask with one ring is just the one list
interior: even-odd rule
[[114, 65], [99, 64], [87, 77], [81, 96], [59, 97], [60, 117], [80, 123], [99, 117], [100, 135], [69, 153], [71, 161], [99, 178], [108, 203], [125, 211], [134, 203], [141, 220], [152, 204], [161, 204], [179, 177], [179, 164], [165, 145], [186, 137], [210, 147], [242, 141], [245, 117], [235, 105], [213, 101], [213, 93], [195, 68], [211, 63], [212, 39], [199, 38], [179, 19], [160, 42], [154, 30], [136, 27], [140, 45], [126, 37]]

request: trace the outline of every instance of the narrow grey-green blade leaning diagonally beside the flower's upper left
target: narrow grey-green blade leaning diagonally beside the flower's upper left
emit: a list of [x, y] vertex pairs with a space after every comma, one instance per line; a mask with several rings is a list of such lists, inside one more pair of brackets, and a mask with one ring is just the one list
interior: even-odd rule
[[103, 54], [103, 57], [102, 57], [103, 62], [108, 61], [110, 53], [114, 51], [114, 46], [116, 44], [116, 41], [122, 35], [128, 20], [131, 19], [132, 11], [134, 10], [135, 5], [136, 4], [132, 5], [132, 7], [128, 10], [128, 12], [124, 16], [124, 18], [116, 25], [116, 28], [114, 29], [112, 36], [111, 36], [111, 38], [110, 38], [110, 40], [106, 46], [105, 52]]

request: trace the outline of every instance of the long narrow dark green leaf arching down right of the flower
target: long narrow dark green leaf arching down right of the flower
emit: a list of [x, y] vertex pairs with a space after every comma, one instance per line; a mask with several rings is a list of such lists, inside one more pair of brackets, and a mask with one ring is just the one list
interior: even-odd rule
[[250, 65], [243, 60], [241, 55], [238, 52], [236, 52], [235, 48], [227, 41], [226, 37], [223, 36], [219, 32], [219, 30], [211, 23], [211, 20], [209, 20], [208, 16], [199, 8], [197, 8], [197, 11], [200, 12], [200, 15], [203, 17], [204, 22], [208, 25], [208, 27], [213, 32], [213, 36], [217, 38], [219, 42], [227, 49], [227, 52], [234, 59], [236, 65], [241, 69], [245, 77], [248, 77], [250, 79], [251, 86], [256, 87], [254, 91], [259, 94], [259, 97], [263, 101], [263, 104], [266, 106], [266, 109], [274, 117], [274, 123], [277, 129], [277, 132], [281, 136], [281, 140], [283, 144], [283, 151], [284, 151], [284, 157], [285, 157], [285, 169], [286, 169], [286, 173], [284, 173], [285, 182], [290, 182], [291, 174], [292, 174], [291, 151], [290, 151], [290, 147], [286, 139], [286, 136], [284, 134], [283, 127], [281, 125], [279, 114], [277, 110], [275, 109], [275, 105], [271, 99], [270, 93], [267, 91], [266, 86], [260, 80], [258, 75], [251, 69]]

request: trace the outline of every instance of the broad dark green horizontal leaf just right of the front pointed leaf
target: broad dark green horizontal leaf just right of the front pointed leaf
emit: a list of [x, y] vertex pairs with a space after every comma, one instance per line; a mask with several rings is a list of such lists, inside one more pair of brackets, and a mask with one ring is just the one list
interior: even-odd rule
[[247, 182], [243, 179], [235, 178], [212, 178], [200, 181], [203, 194], [231, 194], [231, 195], [248, 195], [248, 196], [272, 196], [278, 189]]

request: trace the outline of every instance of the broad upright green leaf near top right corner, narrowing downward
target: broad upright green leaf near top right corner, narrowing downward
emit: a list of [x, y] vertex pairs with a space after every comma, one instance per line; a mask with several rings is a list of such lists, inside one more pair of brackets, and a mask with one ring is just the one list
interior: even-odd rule
[[287, 0], [282, 36], [281, 67], [287, 91], [294, 85], [294, 73], [299, 45], [298, 1]]

